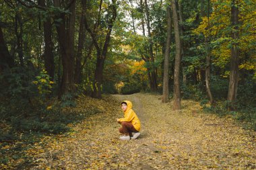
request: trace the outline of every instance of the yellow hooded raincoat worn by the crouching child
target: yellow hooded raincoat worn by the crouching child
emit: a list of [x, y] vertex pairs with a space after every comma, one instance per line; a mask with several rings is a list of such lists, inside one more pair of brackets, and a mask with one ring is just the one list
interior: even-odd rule
[[127, 110], [125, 110], [125, 118], [120, 118], [119, 122], [131, 122], [133, 124], [134, 128], [139, 131], [140, 130], [140, 121], [135, 112], [131, 109], [133, 107], [133, 104], [131, 101], [125, 100], [125, 103], [127, 103]]

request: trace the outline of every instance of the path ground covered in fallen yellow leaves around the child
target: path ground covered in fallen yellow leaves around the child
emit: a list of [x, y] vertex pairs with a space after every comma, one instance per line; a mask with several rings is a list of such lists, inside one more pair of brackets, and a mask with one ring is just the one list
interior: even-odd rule
[[[116, 118], [123, 116], [124, 99], [133, 102], [141, 120], [137, 140], [119, 140]], [[201, 114], [194, 101], [183, 101], [183, 109], [174, 112], [160, 95], [81, 97], [74, 110], [88, 105], [101, 112], [86, 117], [73, 132], [46, 136], [31, 146], [29, 169], [256, 169], [255, 132], [231, 118]]]

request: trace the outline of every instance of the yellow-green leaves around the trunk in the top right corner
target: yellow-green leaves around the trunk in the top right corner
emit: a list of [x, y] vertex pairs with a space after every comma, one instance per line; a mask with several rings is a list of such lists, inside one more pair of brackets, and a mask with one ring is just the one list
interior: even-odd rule
[[[194, 34], [203, 34], [205, 38], [211, 36], [215, 38], [216, 45], [212, 49], [212, 56], [215, 56], [213, 61], [219, 67], [225, 67], [230, 60], [231, 52], [230, 46], [232, 38], [230, 36], [230, 0], [220, 2], [219, 0], [211, 0], [213, 5], [213, 12], [210, 14], [209, 19], [205, 16], [202, 17], [201, 24], [193, 30]], [[249, 3], [245, 0], [238, 2], [239, 8], [239, 38], [236, 40], [241, 52], [246, 50], [256, 50], [256, 8], [255, 1]], [[243, 53], [241, 53], [241, 56]], [[255, 58], [255, 56], [249, 56]], [[243, 62], [243, 60], [242, 60]], [[240, 69], [256, 70], [255, 59], [243, 62], [239, 66]]]

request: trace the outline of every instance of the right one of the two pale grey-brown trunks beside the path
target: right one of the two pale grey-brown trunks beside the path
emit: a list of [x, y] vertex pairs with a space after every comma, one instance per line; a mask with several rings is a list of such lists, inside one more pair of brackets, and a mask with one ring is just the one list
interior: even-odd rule
[[181, 40], [179, 34], [179, 19], [175, 0], [172, 0], [172, 18], [175, 35], [175, 65], [174, 65], [174, 92], [173, 92], [173, 110], [181, 110], [181, 89], [180, 89], [180, 68], [181, 68]]

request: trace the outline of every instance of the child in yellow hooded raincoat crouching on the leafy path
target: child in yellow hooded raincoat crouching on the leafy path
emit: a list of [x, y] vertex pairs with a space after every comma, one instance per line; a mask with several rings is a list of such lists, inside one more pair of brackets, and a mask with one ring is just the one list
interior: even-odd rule
[[140, 134], [140, 122], [135, 112], [131, 109], [133, 107], [133, 104], [131, 103], [131, 101], [125, 100], [122, 101], [121, 107], [125, 114], [125, 118], [117, 119], [117, 122], [122, 125], [122, 127], [119, 128], [119, 132], [123, 134], [120, 139], [136, 139]]

